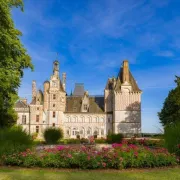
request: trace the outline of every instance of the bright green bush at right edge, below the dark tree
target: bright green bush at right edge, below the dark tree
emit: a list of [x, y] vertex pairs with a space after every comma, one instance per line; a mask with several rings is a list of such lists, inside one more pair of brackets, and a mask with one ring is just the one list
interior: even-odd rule
[[169, 152], [180, 156], [180, 122], [165, 127], [164, 139]]

